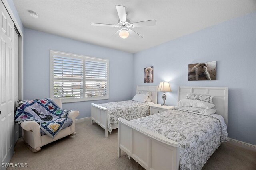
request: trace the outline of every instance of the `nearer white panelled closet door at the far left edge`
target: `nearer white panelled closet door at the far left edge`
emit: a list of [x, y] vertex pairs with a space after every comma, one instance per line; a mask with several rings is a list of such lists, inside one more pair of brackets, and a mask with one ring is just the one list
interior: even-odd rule
[[9, 163], [14, 153], [14, 23], [2, 1], [0, 10], [0, 163]]

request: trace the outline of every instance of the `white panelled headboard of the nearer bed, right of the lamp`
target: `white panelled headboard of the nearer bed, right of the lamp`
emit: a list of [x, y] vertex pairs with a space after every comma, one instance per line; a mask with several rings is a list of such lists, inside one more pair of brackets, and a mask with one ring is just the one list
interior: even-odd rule
[[178, 101], [186, 99], [188, 93], [207, 94], [214, 96], [213, 104], [217, 109], [215, 114], [224, 117], [228, 125], [228, 88], [227, 87], [182, 87], [178, 91]]

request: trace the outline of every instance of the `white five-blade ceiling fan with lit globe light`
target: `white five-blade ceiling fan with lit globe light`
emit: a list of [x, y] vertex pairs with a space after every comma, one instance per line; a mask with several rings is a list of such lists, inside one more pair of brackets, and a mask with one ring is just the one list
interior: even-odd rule
[[119, 16], [119, 20], [117, 25], [112, 24], [105, 24], [105, 23], [91, 23], [92, 26], [104, 26], [104, 27], [118, 27], [120, 30], [116, 31], [112, 36], [116, 36], [119, 34], [121, 38], [127, 38], [129, 37], [129, 34], [134, 35], [139, 38], [143, 38], [141, 35], [136, 33], [130, 28], [136, 28], [136, 27], [145, 27], [145, 26], [153, 26], [156, 25], [156, 20], [148, 20], [148, 21], [140, 21], [131, 23], [130, 20], [126, 18], [126, 11], [124, 6], [116, 5], [116, 10]]

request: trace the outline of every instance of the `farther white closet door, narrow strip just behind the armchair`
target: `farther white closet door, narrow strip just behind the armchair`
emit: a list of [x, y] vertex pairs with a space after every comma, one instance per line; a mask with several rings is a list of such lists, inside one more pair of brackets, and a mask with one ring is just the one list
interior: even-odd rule
[[[19, 99], [19, 35], [14, 31], [14, 111]], [[14, 112], [15, 115], [15, 112]], [[14, 145], [19, 138], [19, 125], [14, 125]]]

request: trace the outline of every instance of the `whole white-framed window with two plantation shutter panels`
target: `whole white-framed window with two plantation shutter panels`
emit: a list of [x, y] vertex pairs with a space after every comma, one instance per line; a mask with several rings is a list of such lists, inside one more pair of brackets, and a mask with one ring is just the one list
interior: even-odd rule
[[108, 99], [108, 60], [50, 51], [50, 96], [62, 102]]

